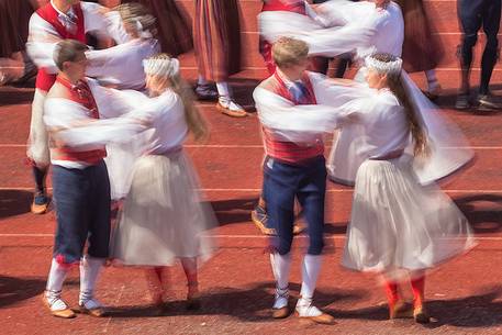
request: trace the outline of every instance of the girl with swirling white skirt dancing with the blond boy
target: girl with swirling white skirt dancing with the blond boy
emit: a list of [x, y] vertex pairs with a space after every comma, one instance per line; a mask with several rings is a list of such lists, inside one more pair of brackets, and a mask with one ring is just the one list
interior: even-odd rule
[[342, 110], [362, 127], [356, 145], [367, 159], [360, 165], [354, 191], [350, 224], [343, 265], [383, 276], [391, 319], [406, 313], [399, 295], [399, 281], [409, 275], [414, 297], [413, 316], [428, 323], [424, 305], [425, 270], [473, 246], [466, 217], [438, 187], [422, 187], [404, 155], [426, 157], [430, 142], [402, 60], [389, 54], [366, 58], [367, 82], [373, 89]]

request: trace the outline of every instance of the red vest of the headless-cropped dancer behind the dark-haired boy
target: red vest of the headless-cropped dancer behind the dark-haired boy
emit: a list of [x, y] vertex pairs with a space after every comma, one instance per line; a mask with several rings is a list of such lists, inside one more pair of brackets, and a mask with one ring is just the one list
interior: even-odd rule
[[[77, 3], [72, 7], [75, 15], [77, 15], [77, 29], [74, 33], [70, 33], [66, 30], [66, 27], [59, 22], [57, 19], [59, 13], [54, 9], [54, 7], [49, 3], [41, 7], [36, 13], [43, 20], [47, 21], [59, 36], [63, 40], [76, 40], [81, 43], [86, 43], [86, 30], [83, 24], [83, 12], [80, 3]], [[38, 75], [36, 76], [36, 88], [43, 91], [48, 91], [54, 82], [56, 81], [56, 75], [48, 74], [44, 68], [38, 69]]]

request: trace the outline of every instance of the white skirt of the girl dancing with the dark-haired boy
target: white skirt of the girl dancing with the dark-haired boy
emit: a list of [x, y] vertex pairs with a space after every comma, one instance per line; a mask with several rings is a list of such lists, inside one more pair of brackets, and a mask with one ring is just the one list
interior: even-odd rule
[[170, 266], [183, 257], [204, 260], [212, 250], [207, 231], [215, 223], [182, 150], [143, 156], [133, 167], [110, 254], [118, 264], [131, 266]]

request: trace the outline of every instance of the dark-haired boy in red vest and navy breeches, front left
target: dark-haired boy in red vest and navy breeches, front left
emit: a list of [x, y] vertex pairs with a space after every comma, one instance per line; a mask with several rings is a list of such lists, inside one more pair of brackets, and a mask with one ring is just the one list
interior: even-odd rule
[[[127, 134], [99, 129], [96, 133], [81, 134], [81, 130], [92, 129], [100, 119], [91, 91], [96, 83], [85, 78], [86, 51], [85, 44], [74, 40], [57, 44], [54, 60], [60, 71], [45, 99], [44, 122], [54, 144], [51, 157], [57, 231], [44, 302], [54, 316], [65, 319], [75, 317], [75, 313], [62, 300], [63, 282], [69, 267], [78, 263], [80, 312], [93, 316], [104, 314], [102, 305], [93, 298], [110, 239], [110, 182], [103, 161], [107, 156], [103, 143], [107, 135], [126, 138], [142, 130], [138, 121], [131, 119], [127, 123], [124, 119], [123, 125], [132, 131]], [[113, 122], [118, 129], [120, 123]], [[80, 131], [79, 136], [71, 133], [75, 131]], [[78, 137], [80, 139], [76, 139]], [[87, 255], [82, 257], [86, 242]]]

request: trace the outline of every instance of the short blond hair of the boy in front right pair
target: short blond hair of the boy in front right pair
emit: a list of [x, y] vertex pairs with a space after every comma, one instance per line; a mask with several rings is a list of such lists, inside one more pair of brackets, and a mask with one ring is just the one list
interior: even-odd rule
[[297, 65], [308, 55], [309, 45], [300, 40], [280, 37], [272, 45], [272, 58], [279, 68]]

